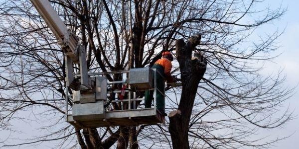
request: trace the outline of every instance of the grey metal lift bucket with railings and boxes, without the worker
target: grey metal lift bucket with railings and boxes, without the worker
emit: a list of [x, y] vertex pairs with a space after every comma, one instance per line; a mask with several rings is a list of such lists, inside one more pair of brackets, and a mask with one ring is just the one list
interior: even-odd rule
[[[154, 73], [153, 73], [154, 72]], [[128, 80], [119, 80], [108, 82], [105, 74], [127, 74]], [[109, 126], [136, 126], [142, 124], [158, 124], [164, 123], [165, 119], [162, 114], [156, 110], [156, 73], [155, 69], [139, 68], [131, 69], [130, 71], [118, 71], [108, 73], [89, 74], [92, 79], [96, 79], [96, 88], [98, 89], [95, 94], [86, 93], [82, 90], [75, 91], [73, 96], [72, 109], [69, 109], [68, 99], [66, 99], [66, 121], [77, 128], [90, 128], [90, 127], [109, 127]], [[102, 76], [100, 76], [102, 75]], [[109, 90], [109, 86], [114, 84], [129, 83], [129, 86], [124, 90], [114, 89]], [[123, 85], [122, 85], [123, 86]], [[109, 91], [107, 91], [107, 89]], [[152, 108], [144, 108], [138, 105], [143, 98], [137, 96], [138, 92], [145, 90], [153, 90], [153, 103]], [[108, 101], [107, 94], [122, 92], [128, 94], [127, 99], [116, 98], [117, 100]], [[67, 92], [66, 92], [67, 94]], [[92, 98], [92, 99], [91, 99]], [[111, 110], [113, 104], [123, 105], [127, 108], [119, 110]], [[105, 106], [106, 105], [106, 106]], [[68, 114], [71, 113], [71, 114]]]

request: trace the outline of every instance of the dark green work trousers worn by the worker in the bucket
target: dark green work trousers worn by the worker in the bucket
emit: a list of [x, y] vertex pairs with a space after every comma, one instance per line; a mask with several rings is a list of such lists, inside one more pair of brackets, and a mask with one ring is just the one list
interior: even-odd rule
[[[164, 88], [165, 88], [165, 80], [164, 80], [164, 69], [160, 65], [153, 65], [151, 68], [156, 69], [156, 107], [158, 110], [164, 111], [165, 108], [165, 98], [164, 98]], [[162, 75], [162, 76], [161, 76]], [[151, 107], [151, 102], [153, 99], [153, 90], [147, 90], [145, 92], [145, 106], [146, 108]]]

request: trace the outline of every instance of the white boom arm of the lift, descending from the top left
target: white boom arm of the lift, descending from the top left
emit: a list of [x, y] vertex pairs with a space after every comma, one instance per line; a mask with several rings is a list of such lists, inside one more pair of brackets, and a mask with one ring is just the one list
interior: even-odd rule
[[[91, 88], [91, 80], [87, 73], [86, 52], [84, 46], [79, 46], [79, 38], [70, 32], [48, 0], [31, 0], [38, 13], [43, 17], [51, 31], [54, 33], [58, 44], [65, 53], [65, 69], [67, 86], [80, 90], [82, 87]], [[78, 51], [77, 51], [78, 49]], [[80, 86], [71, 85], [74, 80], [73, 63], [80, 64]], [[82, 86], [83, 85], [83, 86]]]

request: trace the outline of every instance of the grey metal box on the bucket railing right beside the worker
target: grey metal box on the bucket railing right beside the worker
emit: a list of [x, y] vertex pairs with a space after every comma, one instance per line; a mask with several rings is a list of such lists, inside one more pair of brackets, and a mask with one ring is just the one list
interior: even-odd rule
[[129, 71], [130, 87], [136, 90], [151, 89], [153, 86], [153, 71], [150, 68], [137, 68]]

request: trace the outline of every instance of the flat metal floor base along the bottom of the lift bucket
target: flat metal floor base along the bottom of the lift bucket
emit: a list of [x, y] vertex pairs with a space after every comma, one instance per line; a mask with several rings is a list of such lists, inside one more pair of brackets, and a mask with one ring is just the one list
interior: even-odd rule
[[137, 126], [141, 124], [165, 123], [165, 118], [155, 108], [108, 111], [106, 119], [81, 121], [73, 120], [72, 115], [67, 116], [67, 121], [77, 128], [95, 128], [109, 126]]

